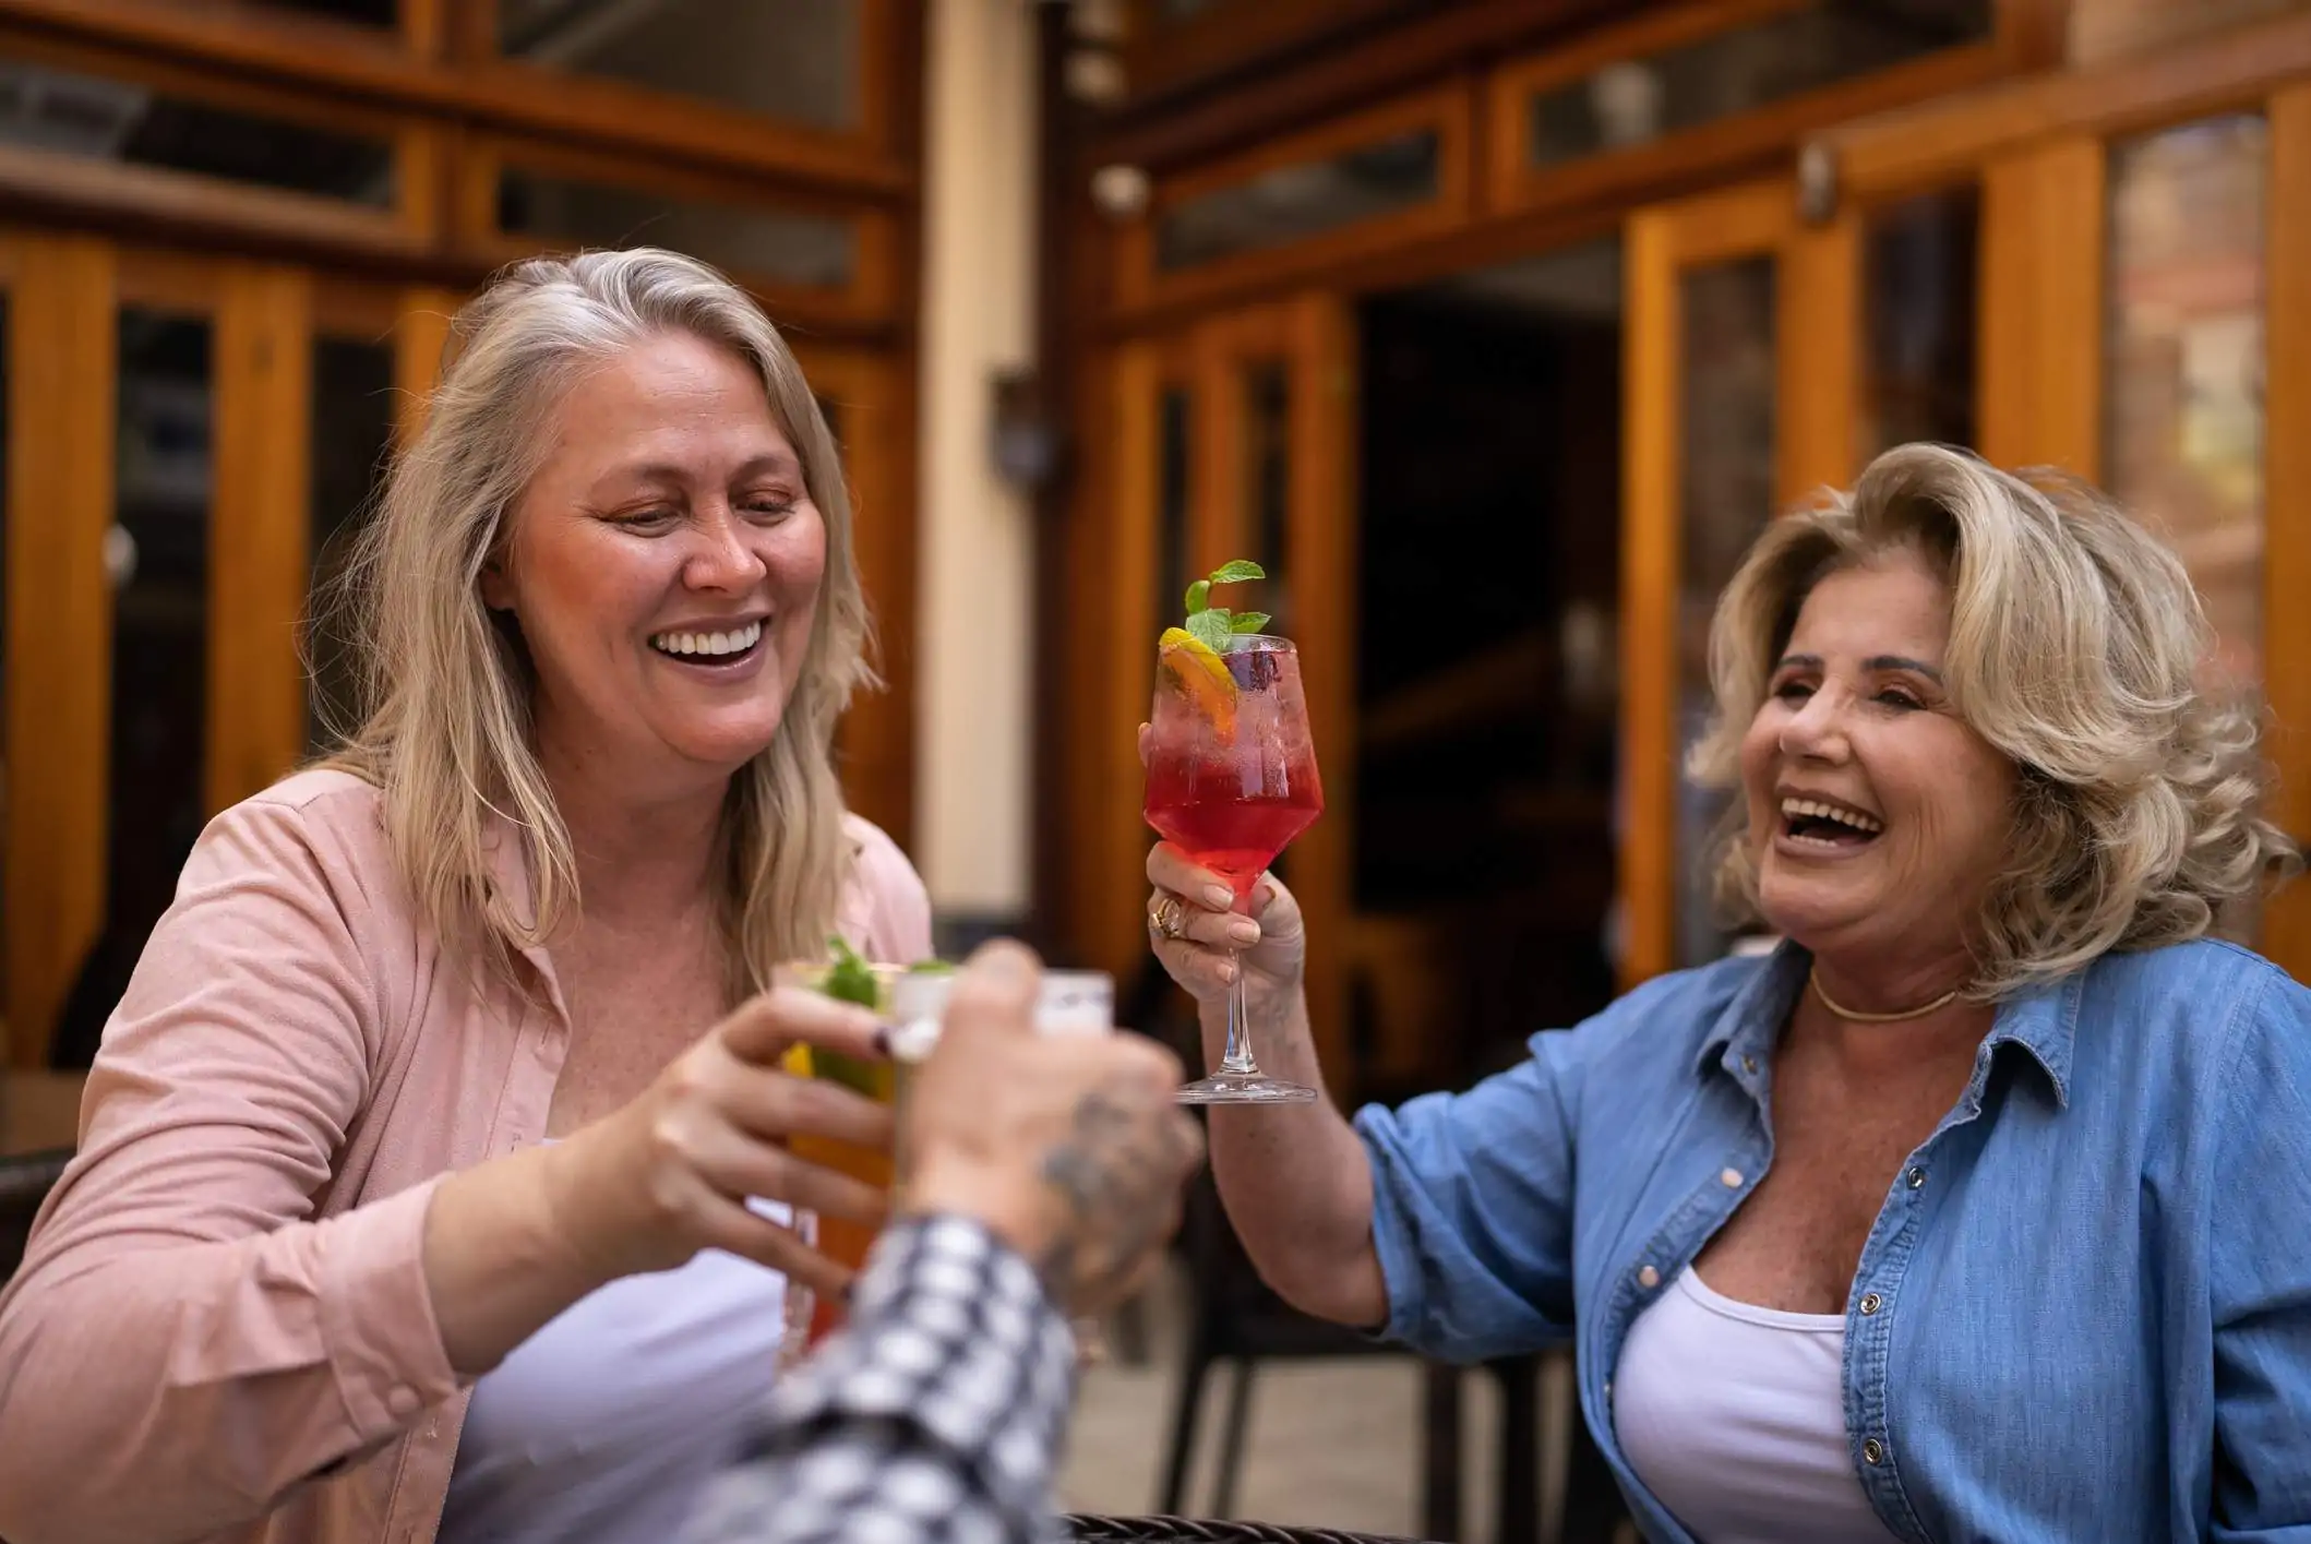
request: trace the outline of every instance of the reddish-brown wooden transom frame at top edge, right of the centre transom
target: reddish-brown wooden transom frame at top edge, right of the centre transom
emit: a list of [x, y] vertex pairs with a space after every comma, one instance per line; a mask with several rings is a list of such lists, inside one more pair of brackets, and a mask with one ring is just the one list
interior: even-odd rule
[[1604, 65], [1634, 60], [1807, 9], [1819, 0], [1703, 0], [1638, 16], [1567, 46], [1548, 49], [1491, 72], [1484, 88], [1488, 213], [1571, 208], [1604, 199], [1669, 194], [1738, 176], [1747, 166], [1791, 153], [1823, 125], [1881, 109], [1888, 102], [1927, 102], [1997, 81], [2031, 58], [2018, 7], [1997, 12], [1997, 32], [1983, 44], [1960, 44], [1890, 69], [1835, 81], [1747, 113], [1664, 134], [1662, 139], [1599, 150], [1569, 162], [1530, 162], [1532, 97], [1578, 81]]

